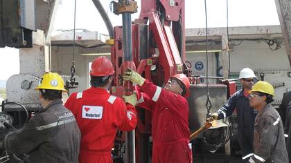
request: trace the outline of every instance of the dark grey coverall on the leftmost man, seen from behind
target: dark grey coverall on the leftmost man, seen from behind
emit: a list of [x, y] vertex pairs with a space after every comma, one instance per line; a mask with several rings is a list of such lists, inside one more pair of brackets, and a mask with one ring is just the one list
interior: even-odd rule
[[29, 162], [77, 163], [80, 130], [71, 111], [55, 100], [32, 117], [21, 130], [6, 135], [8, 153], [26, 153]]

